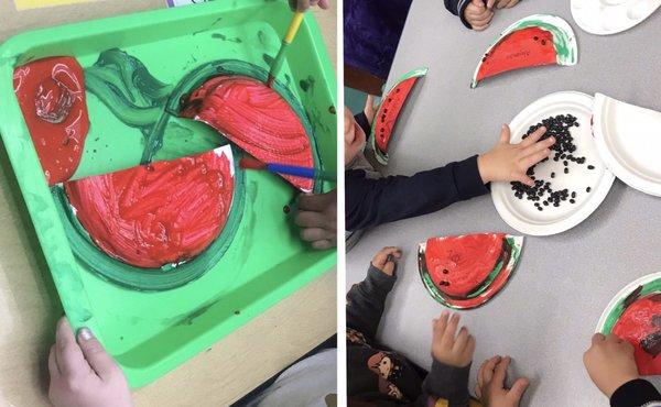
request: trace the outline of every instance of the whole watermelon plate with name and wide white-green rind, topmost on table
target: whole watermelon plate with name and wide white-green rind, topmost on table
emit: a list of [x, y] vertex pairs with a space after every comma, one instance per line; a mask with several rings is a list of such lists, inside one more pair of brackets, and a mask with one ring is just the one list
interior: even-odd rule
[[508, 26], [483, 55], [470, 87], [485, 78], [527, 67], [576, 65], [578, 47], [574, 31], [563, 19], [534, 14]]

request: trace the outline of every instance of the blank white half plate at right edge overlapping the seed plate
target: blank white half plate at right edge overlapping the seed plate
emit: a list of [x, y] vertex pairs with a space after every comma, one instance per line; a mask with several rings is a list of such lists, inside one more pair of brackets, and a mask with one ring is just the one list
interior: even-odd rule
[[593, 130], [606, 166], [627, 185], [661, 197], [661, 112], [595, 96]]

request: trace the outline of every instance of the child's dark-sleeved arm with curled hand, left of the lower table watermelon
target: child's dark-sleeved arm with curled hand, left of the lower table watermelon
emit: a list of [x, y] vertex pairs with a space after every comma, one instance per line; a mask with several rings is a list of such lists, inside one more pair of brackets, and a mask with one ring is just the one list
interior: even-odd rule
[[397, 276], [395, 261], [402, 253], [397, 248], [383, 248], [371, 261], [367, 277], [351, 287], [347, 294], [347, 328], [373, 339], [388, 293], [392, 289]]

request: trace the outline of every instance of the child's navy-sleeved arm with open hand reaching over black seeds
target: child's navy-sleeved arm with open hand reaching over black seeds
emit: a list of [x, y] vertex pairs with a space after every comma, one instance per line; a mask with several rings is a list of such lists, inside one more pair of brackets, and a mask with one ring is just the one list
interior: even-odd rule
[[361, 169], [345, 172], [346, 228], [349, 231], [413, 218], [443, 209], [489, 191], [490, 182], [534, 182], [528, 168], [551, 154], [553, 138], [541, 140], [540, 128], [519, 144], [510, 144], [510, 131], [502, 127], [498, 144], [488, 153], [411, 177], [371, 179]]

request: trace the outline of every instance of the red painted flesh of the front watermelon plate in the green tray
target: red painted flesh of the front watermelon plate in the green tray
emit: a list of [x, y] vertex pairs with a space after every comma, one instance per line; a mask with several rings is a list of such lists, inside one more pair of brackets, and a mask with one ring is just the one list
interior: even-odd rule
[[195, 257], [231, 207], [231, 162], [210, 151], [65, 184], [93, 241], [124, 263], [155, 268]]

